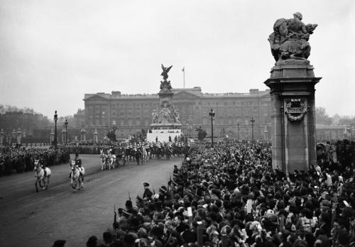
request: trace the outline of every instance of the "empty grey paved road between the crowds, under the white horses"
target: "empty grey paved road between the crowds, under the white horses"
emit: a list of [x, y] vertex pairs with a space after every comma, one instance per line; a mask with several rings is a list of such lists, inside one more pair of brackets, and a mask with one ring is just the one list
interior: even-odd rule
[[0, 246], [52, 246], [56, 239], [67, 240], [66, 247], [85, 246], [89, 236], [102, 238], [112, 226], [114, 204], [124, 207], [128, 192], [132, 199], [142, 196], [143, 182], [158, 190], [173, 165], [181, 165], [175, 158], [102, 171], [97, 155], [80, 158], [86, 170], [80, 191], [70, 188], [69, 164], [53, 166], [49, 189], [38, 193], [34, 172], [0, 177]]

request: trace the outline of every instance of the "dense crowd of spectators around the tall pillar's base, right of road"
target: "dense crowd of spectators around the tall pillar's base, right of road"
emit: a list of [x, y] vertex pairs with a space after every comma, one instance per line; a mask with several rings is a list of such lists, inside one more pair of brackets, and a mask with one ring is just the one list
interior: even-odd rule
[[193, 146], [166, 186], [127, 200], [87, 246], [355, 246], [354, 143], [338, 144], [336, 160], [324, 148], [292, 174], [272, 168], [270, 143]]

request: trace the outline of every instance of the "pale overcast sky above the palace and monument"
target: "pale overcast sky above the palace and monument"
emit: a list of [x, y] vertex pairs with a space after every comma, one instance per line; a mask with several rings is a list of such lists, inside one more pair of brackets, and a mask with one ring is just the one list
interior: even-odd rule
[[355, 1], [0, 1], [0, 104], [53, 117], [84, 108], [85, 93], [157, 93], [160, 63], [173, 87], [265, 90], [268, 35], [299, 11], [317, 23], [309, 60], [316, 106], [355, 115]]

